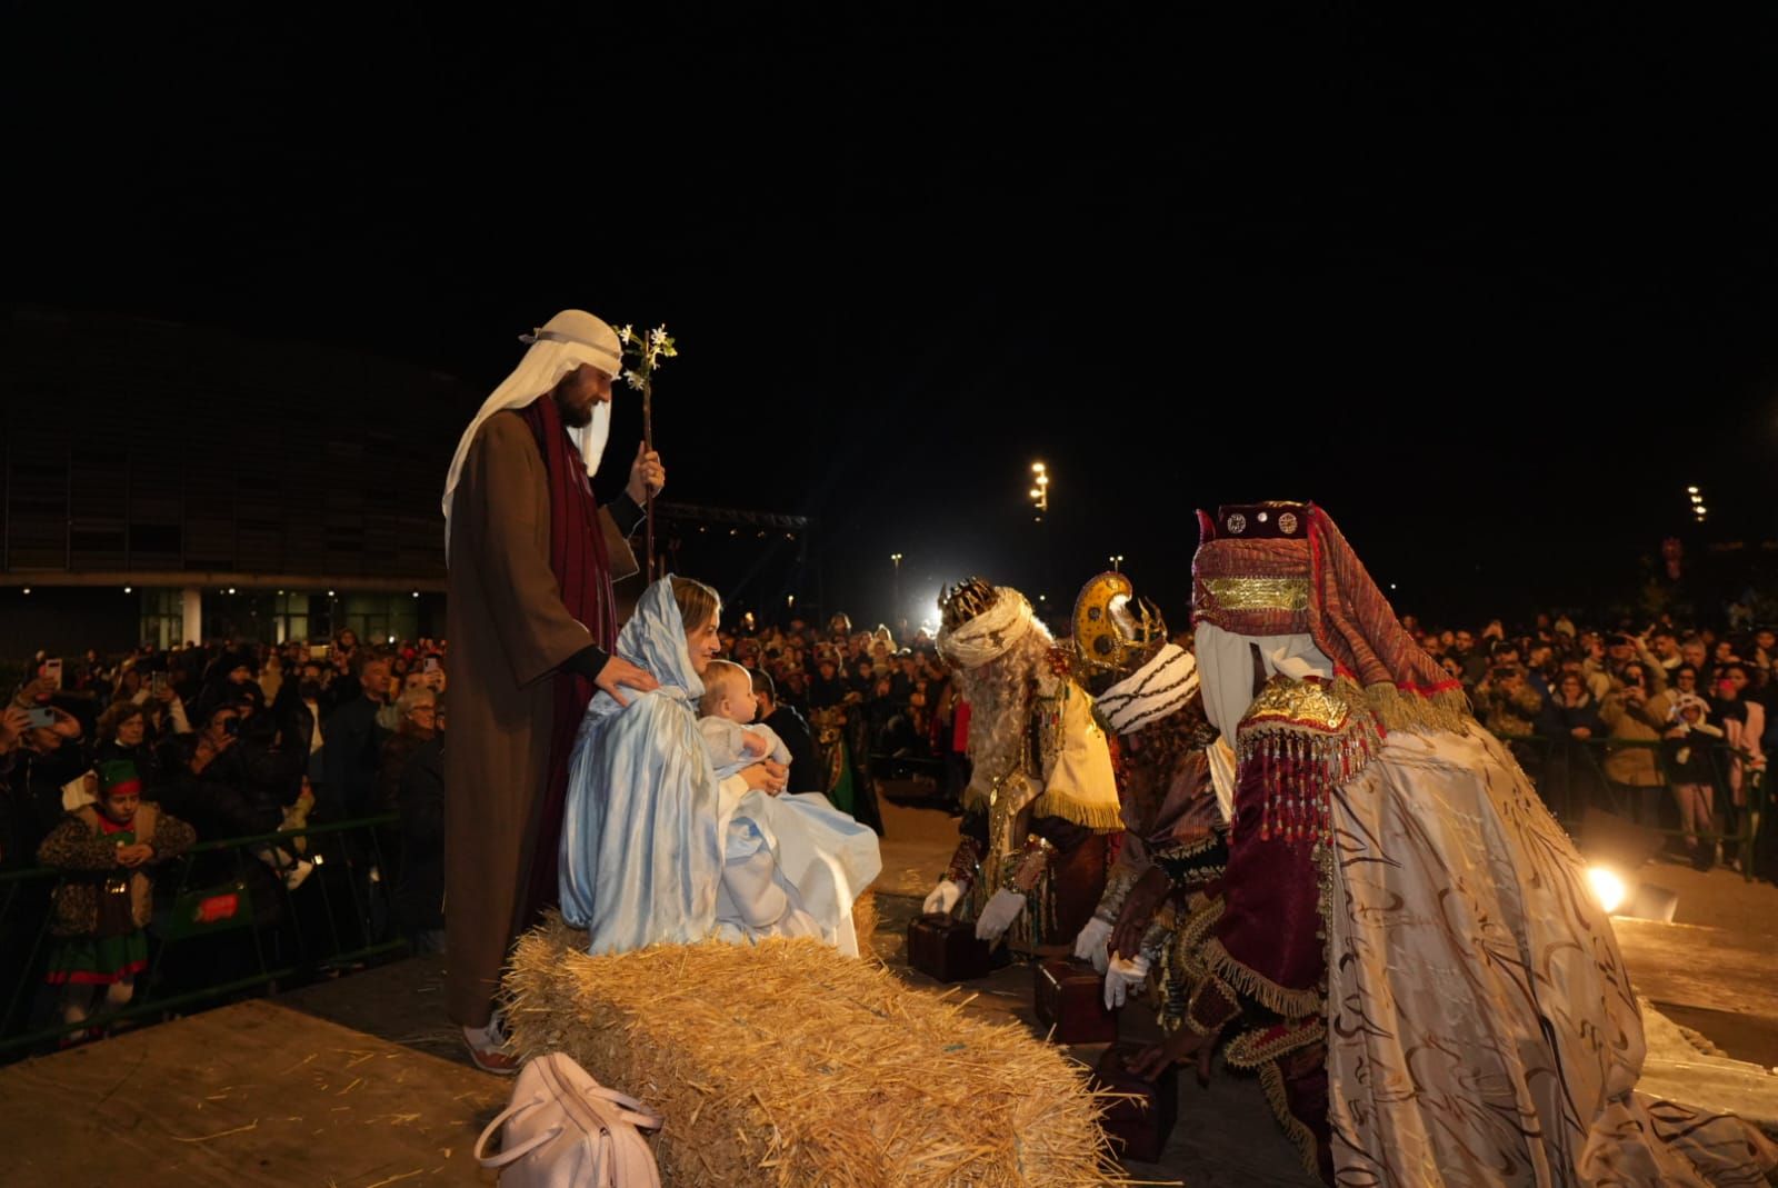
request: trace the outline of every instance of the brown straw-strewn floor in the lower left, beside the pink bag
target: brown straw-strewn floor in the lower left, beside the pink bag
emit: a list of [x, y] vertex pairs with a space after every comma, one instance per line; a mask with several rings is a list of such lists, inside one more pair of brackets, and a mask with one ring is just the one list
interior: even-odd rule
[[[436, 975], [398, 962], [0, 1069], [0, 1184], [484, 1183], [469, 1151], [512, 1083], [432, 1055]], [[304, 1010], [304, 996], [405, 999], [405, 1021], [341, 1026]]]

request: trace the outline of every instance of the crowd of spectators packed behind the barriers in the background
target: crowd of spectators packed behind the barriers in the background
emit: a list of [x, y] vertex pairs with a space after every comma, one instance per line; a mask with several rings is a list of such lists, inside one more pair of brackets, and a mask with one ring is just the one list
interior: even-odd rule
[[[1723, 635], [1666, 619], [1595, 630], [1565, 615], [1517, 631], [1501, 621], [1479, 631], [1403, 624], [1563, 820], [1602, 807], [1675, 831], [1673, 848], [1698, 866], [1774, 873], [1718, 841], [1735, 834], [1778, 743], [1773, 630]], [[928, 631], [898, 640], [846, 615], [825, 626], [743, 615], [724, 628], [722, 656], [756, 674], [761, 715], [789, 740], [791, 791], [827, 791], [878, 831], [875, 781], [885, 774], [917, 775], [957, 807], [969, 708]], [[320, 644], [37, 656], [0, 715], [0, 870], [34, 866], [64, 815], [92, 800], [100, 765], [124, 759], [142, 797], [199, 841], [377, 818], [343, 836], [331, 859], [343, 870], [329, 877], [350, 880], [363, 939], [436, 951], [448, 670], [446, 640], [370, 647], [352, 631]], [[233, 861], [249, 868], [260, 903], [279, 902], [277, 884], [284, 902], [300, 898], [316, 871], [300, 839], [242, 854], [252, 861]], [[27, 900], [23, 916], [0, 919], [0, 946], [41, 923], [41, 905], [37, 921], [28, 914]]]

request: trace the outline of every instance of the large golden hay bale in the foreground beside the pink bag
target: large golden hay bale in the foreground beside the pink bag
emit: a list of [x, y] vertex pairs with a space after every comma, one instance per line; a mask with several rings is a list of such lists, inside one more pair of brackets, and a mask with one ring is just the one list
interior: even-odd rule
[[507, 975], [512, 1048], [667, 1115], [677, 1188], [1125, 1183], [1086, 1071], [816, 941], [590, 957], [553, 916]]

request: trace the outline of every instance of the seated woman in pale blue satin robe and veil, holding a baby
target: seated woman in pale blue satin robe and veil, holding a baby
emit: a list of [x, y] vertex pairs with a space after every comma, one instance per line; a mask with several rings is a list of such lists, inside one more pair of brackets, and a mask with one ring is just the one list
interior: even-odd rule
[[720, 649], [717, 592], [649, 585], [617, 654], [660, 679], [587, 706], [562, 820], [562, 916], [592, 953], [706, 937], [813, 935], [857, 955], [852, 903], [882, 870], [877, 834], [820, 793], [777, 795], [784, 768], [717, 779], [697, 729]]

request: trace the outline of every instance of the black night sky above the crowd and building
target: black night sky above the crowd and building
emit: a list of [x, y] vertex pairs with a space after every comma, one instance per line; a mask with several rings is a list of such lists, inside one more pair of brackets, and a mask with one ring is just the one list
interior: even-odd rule
[[1430, 617], [1778, 537], [1771, 9], [647, 7], [12, 5], [5, 288], [482, 389], [665, 320], [672, 494], [818, 516], [861, 606], [1124, 553], [1182, 619], [1255, 498]]

